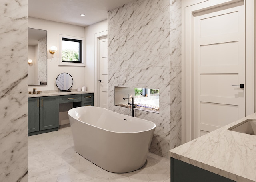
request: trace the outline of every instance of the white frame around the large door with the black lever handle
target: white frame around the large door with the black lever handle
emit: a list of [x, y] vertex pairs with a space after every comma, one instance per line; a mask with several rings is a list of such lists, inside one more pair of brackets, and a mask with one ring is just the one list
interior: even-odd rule
[[[182, 0], [182, 144], [194, 139], [194, 13], [241, 0]], [[255, 112], [255, 2], [245, 7], [245, 114]], [[252, 76], [253, 75], [253, 76]]]

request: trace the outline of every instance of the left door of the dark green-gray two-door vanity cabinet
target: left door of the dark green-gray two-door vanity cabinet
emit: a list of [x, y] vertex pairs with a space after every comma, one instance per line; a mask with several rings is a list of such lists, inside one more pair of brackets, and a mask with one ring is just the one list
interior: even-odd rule
[[28, 98], [28, 133], [39, 131], [39, 97]]

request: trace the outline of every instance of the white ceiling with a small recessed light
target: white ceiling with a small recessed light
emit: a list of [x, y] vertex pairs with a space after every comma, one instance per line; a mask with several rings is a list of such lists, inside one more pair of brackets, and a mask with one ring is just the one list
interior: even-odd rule
[[[132, 0], [28, 0], [28, 16], [86, 27]], [[85, 16], [80, 16], [85, 14]]]

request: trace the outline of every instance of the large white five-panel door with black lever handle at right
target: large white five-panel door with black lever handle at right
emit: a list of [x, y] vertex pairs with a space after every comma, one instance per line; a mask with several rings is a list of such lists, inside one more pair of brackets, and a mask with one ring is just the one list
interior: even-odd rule
[[245, 116], [243, 2], [194, 15], [194, 61], [197, 138]]

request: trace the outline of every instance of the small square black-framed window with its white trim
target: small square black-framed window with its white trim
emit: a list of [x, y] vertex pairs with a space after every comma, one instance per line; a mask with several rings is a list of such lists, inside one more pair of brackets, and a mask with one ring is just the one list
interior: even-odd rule
[[59, 34], [58, 65], [85, 66], [84, 38]]

